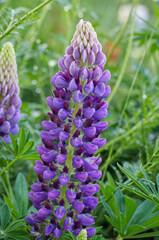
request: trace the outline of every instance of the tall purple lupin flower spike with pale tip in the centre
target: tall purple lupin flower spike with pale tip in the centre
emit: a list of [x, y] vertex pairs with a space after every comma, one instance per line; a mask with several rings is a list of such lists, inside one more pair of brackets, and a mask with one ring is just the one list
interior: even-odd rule
[[38, 179], [29, 193], [38, 212], [26, 217], [37, 240], [60, 238], [68, 231], [78, 236], [82, 229], [85, 239], [95, 234], [90, 213], [98, 204], [94, 195], [99, 190], [96, 181], [102, 176], [98, 170], [102, 160], [94, 154], [106, 143], [100, 134], [108, 123], [101, 120], [108, 107], [103, 98], [110, 94], [105, 62], [93, 27], [81, 20], [71, 46], [59, 60], [61, 71], [51, 81], [55, 90], [47, 98], [50, 120], [42, 122], [43, 146], [37, 148], [42, 161], [36, 161]]

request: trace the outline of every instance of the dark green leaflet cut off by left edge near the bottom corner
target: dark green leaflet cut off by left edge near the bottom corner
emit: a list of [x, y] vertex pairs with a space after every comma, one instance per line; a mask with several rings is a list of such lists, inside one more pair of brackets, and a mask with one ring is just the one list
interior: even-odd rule
[[9, 223], [10, 219], [11, 219], [11, 213], [9, 210], [9, 207], [7, 206], [7, 204], [4, 204], [1, 208], [0, 208], [0, 218], [1, 218], [1, 229], [4, 230], [6, 225]]

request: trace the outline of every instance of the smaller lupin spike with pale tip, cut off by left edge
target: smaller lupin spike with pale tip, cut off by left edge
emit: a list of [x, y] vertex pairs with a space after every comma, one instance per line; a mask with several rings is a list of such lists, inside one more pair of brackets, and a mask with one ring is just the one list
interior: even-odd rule
[[15, 52], [11, 43], [6, 43], [0, 52], [0, 137], [10, 143], [9, 132], [19, 131], [21, 99]]

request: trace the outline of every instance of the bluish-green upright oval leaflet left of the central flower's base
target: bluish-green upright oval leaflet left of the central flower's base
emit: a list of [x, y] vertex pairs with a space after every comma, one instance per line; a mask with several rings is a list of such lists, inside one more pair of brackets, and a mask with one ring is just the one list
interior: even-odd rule
[[17, 201], [17, 212], [23, 216], [28, 208], [28, 187], [22, 173], [19, 173], [15, 181], [15, 198]]

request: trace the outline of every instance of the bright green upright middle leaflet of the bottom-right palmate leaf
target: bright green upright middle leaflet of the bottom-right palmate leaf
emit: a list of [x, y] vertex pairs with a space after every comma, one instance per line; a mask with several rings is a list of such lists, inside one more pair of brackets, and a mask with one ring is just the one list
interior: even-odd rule
[[124, 199], [125, 199], [125, 205], [126, 205], [126, 222], [128, 224], [136, 210], [136, 202], [135, 200], [127, 196], [124, 196]]

